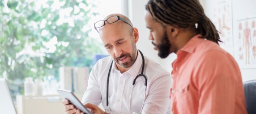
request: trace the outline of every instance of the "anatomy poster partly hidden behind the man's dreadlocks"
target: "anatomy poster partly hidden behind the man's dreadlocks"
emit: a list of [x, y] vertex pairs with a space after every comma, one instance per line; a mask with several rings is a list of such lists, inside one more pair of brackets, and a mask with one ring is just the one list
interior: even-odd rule
[[[223, 43], [220, 46], [224, 49], [233, 49], [232, 33], [232, 5], [231, 0], [214, 0], [212, 21], [220, 32], [220, 39]], [[226, 50], [228, 51], [228, 50]], [[233, 54], [233, 51], [230, 53]]]

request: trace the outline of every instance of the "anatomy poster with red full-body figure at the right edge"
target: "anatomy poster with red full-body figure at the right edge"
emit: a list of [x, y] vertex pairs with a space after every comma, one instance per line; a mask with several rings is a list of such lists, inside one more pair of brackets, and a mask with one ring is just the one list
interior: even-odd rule
[[234, 21], [234, 49], [241, 68], [256, 68], [256, 15]]

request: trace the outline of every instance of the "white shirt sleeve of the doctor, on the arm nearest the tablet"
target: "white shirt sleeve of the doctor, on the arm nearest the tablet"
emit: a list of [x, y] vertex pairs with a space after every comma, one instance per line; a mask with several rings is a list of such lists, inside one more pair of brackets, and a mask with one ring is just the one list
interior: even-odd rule
[[97, 73], [97, 66], [95, 65], [90, 73], [89, 80], [88, 80], [88, 87], [83, 95], [82, 104], [92, 103], [94, 105], [99, 105], [102, 96], [100, 93], [100, 86], [98, 84], [98, 73]]

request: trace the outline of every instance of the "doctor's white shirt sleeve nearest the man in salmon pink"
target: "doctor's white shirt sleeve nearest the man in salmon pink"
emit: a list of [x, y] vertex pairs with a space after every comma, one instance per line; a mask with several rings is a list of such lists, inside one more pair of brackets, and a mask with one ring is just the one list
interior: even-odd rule
[[152, 81], [142, 114], [166, 114], [166, 112], [170, 112], [168, 109], [170, 107], [170, 89], [171, 76], [169, 73]]

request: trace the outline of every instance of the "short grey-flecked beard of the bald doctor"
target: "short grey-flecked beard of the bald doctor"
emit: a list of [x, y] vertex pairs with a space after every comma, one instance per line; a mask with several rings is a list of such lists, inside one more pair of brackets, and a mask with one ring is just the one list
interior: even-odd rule
[[[130, 53], [123, 53], [119, 57], [115, 57], [115, 63], [120, 65], [122, 68], [125, 68], [125, 69], [130, 68], [133, 65], [133, 63], [135, 62], [136, 52], [137, 52], [137, 48], [136, 48], [135, 42], [133, 41], [132, 42], [132, 55]], [[125, 63], [119, 63], [118, 59], [125, 57], [125, 56], [129, 57], [130, 60]]]

